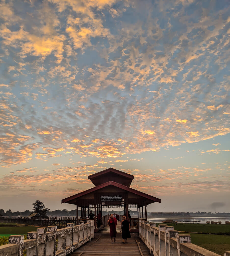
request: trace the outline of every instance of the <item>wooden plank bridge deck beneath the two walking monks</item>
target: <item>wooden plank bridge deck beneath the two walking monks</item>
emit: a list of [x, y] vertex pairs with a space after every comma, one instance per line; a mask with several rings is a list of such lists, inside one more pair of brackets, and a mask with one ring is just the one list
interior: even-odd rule
[[[121, 222], [117, 225], [116, 242], [111, 243], [109, 236], [109, 227], [103, 228], [100, 232], [95, 234], [95, 237], [87, 242], [84, 246], [75, 250], [71, 256], [93, 256], [93, 255], [107, 255], [107, 256], [149, 256], [149, 249], [139, 239], [138, 233], [131, 233], [131, 238], [127, 239], [128, 243], [123, 244], [120, 233]], [[137, 242], [139, 243], [140, 250]]]

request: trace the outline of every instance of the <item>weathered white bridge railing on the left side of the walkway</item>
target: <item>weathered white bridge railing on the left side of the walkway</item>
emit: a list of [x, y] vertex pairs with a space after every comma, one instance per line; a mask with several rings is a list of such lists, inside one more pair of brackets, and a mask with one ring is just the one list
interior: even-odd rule
[[64, 256], [72, 253], [94, 237], [94, 221], [74, 226], [68, 223], [66, 228], [57, 226], [38, 228], [36, 232], [28, 232], [27, 239], [23, 235], [9, 236], [9, 243], [0, 246], [1, 256]]

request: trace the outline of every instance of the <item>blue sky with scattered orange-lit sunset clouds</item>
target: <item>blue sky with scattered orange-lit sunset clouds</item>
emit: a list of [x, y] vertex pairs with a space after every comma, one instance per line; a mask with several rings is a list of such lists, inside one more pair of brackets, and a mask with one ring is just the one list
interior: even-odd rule
[[[161, 199], [230, 212], [228, 0], [0, 1], [0, 208], [109, 167]], [[218, 202], [218, 204], [217, 204]]]

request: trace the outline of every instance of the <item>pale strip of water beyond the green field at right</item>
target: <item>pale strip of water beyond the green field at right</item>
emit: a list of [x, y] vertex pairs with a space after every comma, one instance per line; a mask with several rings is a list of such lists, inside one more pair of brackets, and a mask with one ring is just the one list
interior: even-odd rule
[[225, 221], [230, 221], [230, 218], [220, 218], [220, 217], [214, 217], [214, 218], [208, 218], [208, 217], [201, 217], [201, 218], [148, 218], [147, 219], [149, 222], [157, 222], [157, 223], [160, 223], [162, 222], [163, 220], [174, 220], [174, 221], [183, 221], [184, 223], [186, 221], [190, 222], [190, 223], [193, 223], [193, 222], [197, 222], [197, 223], [206, 223], [206, 221], [221, 221], [222, 224], [225, 224]]

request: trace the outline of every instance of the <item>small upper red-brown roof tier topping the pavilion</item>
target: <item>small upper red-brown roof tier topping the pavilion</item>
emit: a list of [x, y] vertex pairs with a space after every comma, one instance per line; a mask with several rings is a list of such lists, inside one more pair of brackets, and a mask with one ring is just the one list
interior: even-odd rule
[[111, 180], [129, 187], [134, 179], [134, 176], [110, 167], [101, 172], [89, 175], [88, 179], [90, 179], [95, 186], [104, 184]]

